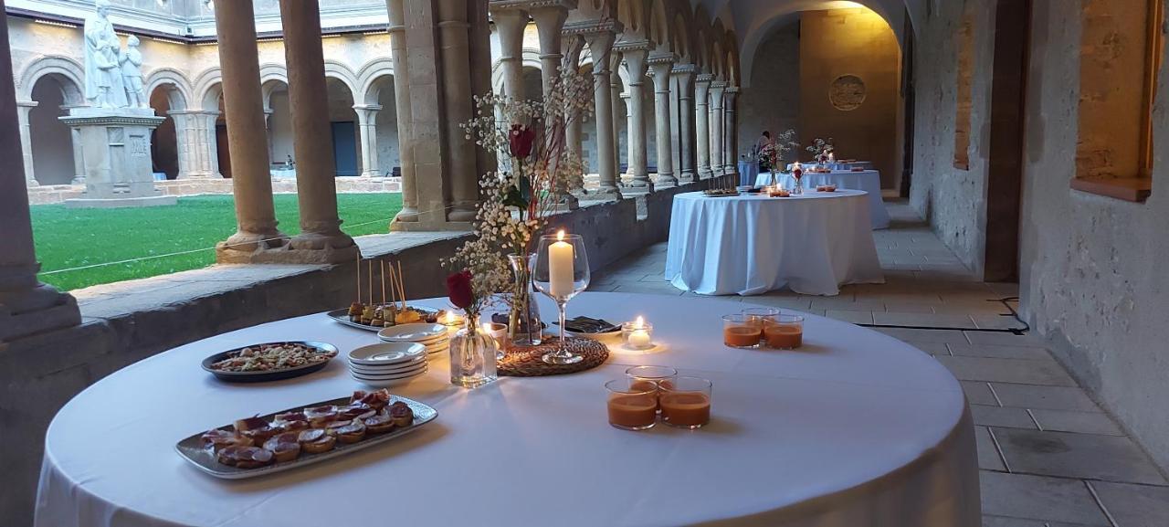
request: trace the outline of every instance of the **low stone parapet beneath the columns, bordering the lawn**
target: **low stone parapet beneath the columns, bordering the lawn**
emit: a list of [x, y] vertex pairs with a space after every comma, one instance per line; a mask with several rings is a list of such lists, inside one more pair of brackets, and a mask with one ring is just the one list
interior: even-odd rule
[[[599, 271], [666, 238], [673, 196], [713, 180], [616, 202], [582, 202], [554, 226], [584, 235]], [[230, 181], [227, 181], [230, 183]], [[465, 237], [461, 233], [393, 233], [357, 238], [366, 258], [401, 261], [410, 298], [444, 294], [436, 265]], [[219, 333], [346, 306], [353, 264], [213, 265], [72, 293], [82, 326], [0, 347], [0, 525], [29, 525], [44, 430], [56, 411], [97, 380], [155, 353]], [[15, 394], [20, 394], [19, 397]], [[148, 396], [148, 394], [144, 394]]]

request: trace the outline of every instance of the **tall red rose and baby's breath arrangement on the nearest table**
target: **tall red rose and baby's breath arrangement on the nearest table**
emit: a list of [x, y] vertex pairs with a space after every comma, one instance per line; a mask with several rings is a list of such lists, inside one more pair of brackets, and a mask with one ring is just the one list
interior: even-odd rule
[[592, 103], [593, 81], [575, 68], [561, 68], [542, 103], [493, 93], [475, 97], [476, 116], [461, 126], [468, 140], [497, 153], [499, 171], [479, 179], [482, 200], [475, 236], [445, 262], [452, 270], [469, 273], [475, 298], [471, 308], [507, 291], [510, 269], [514, 269], [511, 318], [517, 310], [527, 311], [528, 270], [509, 258], [527, 262], [533, 240], [547, 228], [562, 196], [581, 186], [584, 165], [567, 147], [566, 131], [593, 111]]

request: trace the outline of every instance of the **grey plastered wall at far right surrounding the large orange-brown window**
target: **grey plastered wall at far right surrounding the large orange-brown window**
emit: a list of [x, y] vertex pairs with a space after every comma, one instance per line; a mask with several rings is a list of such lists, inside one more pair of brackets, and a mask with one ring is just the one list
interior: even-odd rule
[[[1080, 1], [1036, 0], [1028, 77], [1023, 310], [1056, 355], [1169, 469], [1169, 116], [1154, 112], [1153, 195], [1130, 203], [1072, 190]], [[1125, 41], [1120, 44], [1123, 46]], [[1158, 92], [1164, 95], [1162, 65]]]

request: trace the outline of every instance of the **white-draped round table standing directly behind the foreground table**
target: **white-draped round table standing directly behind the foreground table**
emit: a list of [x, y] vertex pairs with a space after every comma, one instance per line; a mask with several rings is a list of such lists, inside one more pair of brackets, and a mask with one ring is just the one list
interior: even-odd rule
[[665, 279], [701, 294], [762, 294], [787, 286], [835, 296], [843, 284], [881, 284], [867, 193], [678, 194]]

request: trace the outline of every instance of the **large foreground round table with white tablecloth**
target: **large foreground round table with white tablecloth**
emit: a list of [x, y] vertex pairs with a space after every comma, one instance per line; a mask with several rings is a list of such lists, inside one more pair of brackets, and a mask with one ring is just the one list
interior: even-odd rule
[[[583, 293], [569, 315], [645, 315], [656, 353], [615, 345], [606, 365], [584, 373], [505, 377], [476, 390], [451, 386], [447, 359], [435, 358], [424, 376], [393, 389], [436, 408], [434, 423], [243, 481], [199, 472], [174, 443], [361, 388], [343, 358], [376, 337], [313, 314], [181, 346], [61, 409], [46, 437], [36, 526], [980, 525], [974, 427], [946, 368], [891, 337], [811, 315], [798, 351], [724, 347], [718, 315], [742, 308]], [[341, 356], [321, 372], [261, 384], [222, 383], [199, 368], [212, 353], [283, 339], [327, 341]], [[711, 423], [609, 427], [603, 383], [630, 365], [712, 380]]]

